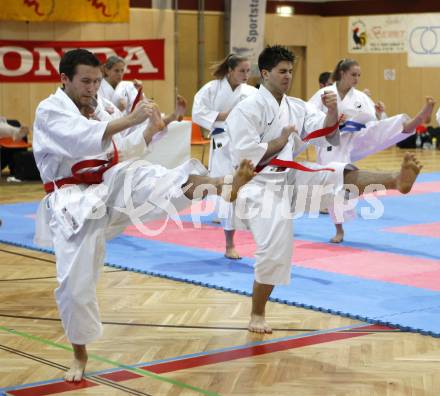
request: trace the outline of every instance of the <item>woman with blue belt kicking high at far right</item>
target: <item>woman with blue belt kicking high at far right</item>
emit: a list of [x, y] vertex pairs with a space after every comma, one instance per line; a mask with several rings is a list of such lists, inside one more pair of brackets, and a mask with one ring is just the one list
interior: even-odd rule
[[[384, 150], [415, 133], [415, 128], [425, 122], [432, 113], [434, 100], [427, 98], [420, 113], [410, 118], [407, 114], [398, 114], [383, 118], [384, 105], [374, 103], [364, 92], [356, 89], [361, 69], [353, 59], [342, 59], [333, 71], [334, 84], [317, 91], [309, 100], [321, 111], [326, 111], [321, 96], [325, 92], [337, 95], [339, 114], [343, 114], [340, 127], [341, 143], [338, 147], [330, 145], [317, 147], [317, 162], [326, 165], [332, 161], [355, 162], [366, 156]], [[336, 227], [336, 235], [330, 240], [340, 243], [344, 239], [343, 222], [355, 217], [354, 210], [344, 213], [344, 218], [336, 218], [334, 210], [328, 208]]]

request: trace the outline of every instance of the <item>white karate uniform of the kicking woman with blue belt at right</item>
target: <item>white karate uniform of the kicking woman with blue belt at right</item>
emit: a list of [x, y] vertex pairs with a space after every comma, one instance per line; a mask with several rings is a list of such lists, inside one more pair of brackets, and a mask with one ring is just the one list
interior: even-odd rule
[[[337, 95], [339, 114], [344, 114], [347, 125], [356, 123], [352, 131], [341, 128], [341, 144], [337, 147], [323, 146], [316, 148], [317, 162], [326, 165], [332, 161], [355, 162], [370, 154], [377, 153], [406, 139], [412, 133], [402, 133], [403, 125], [409, 120], [406, 114], [399, 114], [386, 119], [377, 120], [374, 102], [364, 92], [351, 88], [344, 99], [339, 96], [336, 83], [321, 88], [310, 99], [319, 110], [327, 112], [321, 100], [324, 91], [333, 91]], [[350, 127], [349, 127], [350, 129]], [[347, 197], [348, 199], [349, 197]], [[346, 210], [344, 218], [336, 219], [334, 208], [328, 208], [330, 217], [336, 224], [356, 217], [354, 209]]]

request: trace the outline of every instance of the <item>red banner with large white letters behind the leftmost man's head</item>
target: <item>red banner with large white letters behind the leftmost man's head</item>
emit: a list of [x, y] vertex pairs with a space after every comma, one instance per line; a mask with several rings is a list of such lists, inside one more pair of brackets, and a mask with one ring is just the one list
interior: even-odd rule
[[86, 48], [101, 62], [111, 55], [125, 60], [124, 79], [164, 80], [165, 40], [17, 41], [0, 40], [0, 82], [58, 82], [61, 56]]

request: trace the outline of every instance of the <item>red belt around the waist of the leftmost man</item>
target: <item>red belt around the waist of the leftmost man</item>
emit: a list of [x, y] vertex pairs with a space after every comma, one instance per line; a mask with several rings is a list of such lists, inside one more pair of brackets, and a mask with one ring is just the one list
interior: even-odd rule
[[[71, 168], [72, 176], [65, 177], [63, 179], [58, 179], [52, 182], [44, 184], [44, 191], [47, 194], [55, 190], [55, 186], [60, 188], [66, 184], [100, 184], [102, 183], [102, 175], [104, 172], [108, 171], [111, 167], [115, 166], [119, 160], [118, 150], [116, 148], [115, 142], [113, 142], [113, 158], [111, 160], [101, 160], [101, 159], [89, 159], [77, 162]], [[96, 170], [88, 170], [90, 168], [97, 168]]]

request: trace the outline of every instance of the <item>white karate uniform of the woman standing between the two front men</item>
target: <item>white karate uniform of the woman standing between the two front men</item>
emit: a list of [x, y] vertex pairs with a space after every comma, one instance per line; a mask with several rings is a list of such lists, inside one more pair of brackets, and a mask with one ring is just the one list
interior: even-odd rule
[[[194, 96], [192, 121], [211, 133], [209, 150], [209, 172], [212, 177], [221, 177], [233, 171], [230, 155], [229, 136], [225, 132], [225, 121], [216, 121], [220, 112], [228, 111], [247, 98], [255, 94], [257, 89], [248, 84], [240, 84], [234, 90], [227, 77], [212, 80], [205, 84]], [[214, 130], [224, 132], [212, 134]], [[222, 224], [225, 230], [233, 230], [234, 205], [223, 202], [226, 213], [222, 214]]]

